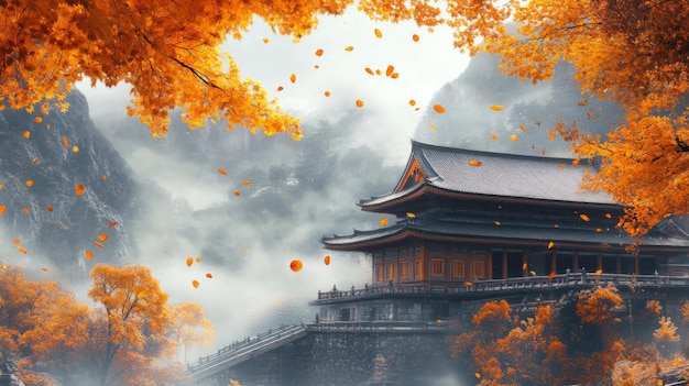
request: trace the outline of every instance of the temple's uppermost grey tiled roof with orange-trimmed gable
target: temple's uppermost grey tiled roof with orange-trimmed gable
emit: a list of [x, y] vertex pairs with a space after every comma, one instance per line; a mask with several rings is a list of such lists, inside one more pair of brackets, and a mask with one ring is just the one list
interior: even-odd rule
[[[584, 191], [586, 168], [573, 158], [526, 156], [444, 147], [412, 141], [412, 154], [395, 189], [363, 199], [363, 208], [390, 203], [426, 187], [450, 192], [576, 203], [614, 205], [604, 192]], [[480, 166], [472, 166], [478, 164]]]

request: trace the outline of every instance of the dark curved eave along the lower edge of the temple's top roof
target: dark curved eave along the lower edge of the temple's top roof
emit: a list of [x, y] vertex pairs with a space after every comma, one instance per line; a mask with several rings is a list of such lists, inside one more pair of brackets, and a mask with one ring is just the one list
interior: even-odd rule
[[375, 198], [371, 198], [370, 200], [361, 200], [359, 206], [361, 210], [370, 211], [370, 212], [386, 212], [390, 211], [391, 208], [394, 208], [398, 205], [408, 203], [416, 199], [420, 199], [424, 195], [436, 195], [447, 198], [455, 199], [464, 199], [464, 200], [480, 200], [480, 201], [494, 201], [500, 200], [503, 202], [514, 202], [514, 203], [532, 203], [532, 205], [547, 205], [554, 207], [572, 207], [576, 206], [578, 208], [616, 208], [623, 209], [623, 206], [620, 206], [614, 202], [590, 202], [590, 201], [566, 201], [566, 200], [548, 200], [543, 198], [531, 198], [531, 197], [514, 197], [514, 196], [494, 196], [494, 195], [481, 195], [474, 192], [462, 192], [450, 190], [446, 188], [440, 188], [437, 186], [429, 185], [428, 183], [419, 184], [413, 188], [402, 190], [398, 192], [393, 192], [385, 196], [380, 196]]

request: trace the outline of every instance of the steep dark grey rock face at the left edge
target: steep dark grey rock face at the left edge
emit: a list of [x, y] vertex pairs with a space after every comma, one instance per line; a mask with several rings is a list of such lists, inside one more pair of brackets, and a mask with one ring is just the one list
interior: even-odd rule
[[[0, 260], [30, 269], [32, 258], [44, 256], [61, 275], [78, 279], [94, 264], [87, 250], [98, 263], [131, 258], [123, 224], [133, 212], [135, 185], [128, 165], [89, 119], [86, 98], [75, 91], [68, 101], [66, 113], [0, 112], [0, 205], [6, 207]], [[75, 189], [79, 184], [81, 196]]]

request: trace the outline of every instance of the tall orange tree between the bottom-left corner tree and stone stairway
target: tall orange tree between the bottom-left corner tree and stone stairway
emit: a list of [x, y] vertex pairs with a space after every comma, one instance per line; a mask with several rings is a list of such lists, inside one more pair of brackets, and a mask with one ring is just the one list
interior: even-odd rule
[[91, 272], [89, 297], [101, 308], [92, 313], [88, 356], [100, 386], [156, 385], [175, 368], [158, 360], [174, 355], [168, 338], [173, 312], [151, 269], [99, 265]]

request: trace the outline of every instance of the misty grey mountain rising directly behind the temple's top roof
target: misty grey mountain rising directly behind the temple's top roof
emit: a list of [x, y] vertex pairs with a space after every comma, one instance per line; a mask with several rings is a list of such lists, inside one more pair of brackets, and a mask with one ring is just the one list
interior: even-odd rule
[[440, 104], [446, 112], [428, 108], [415, 139], [482, 151], [568, 156], [569, 145], [549, 135], [558, 122], [576, 121], [580, 129], [600, 134], [620, 122], [623, 112], [616, 103], [581, 95], [571, 65], [560, 63], [550, 80], [532, 85], [501, 74], [499, 60], [484, 53], [473, 57], [459, 77], [436, 92], [430, 104]]

